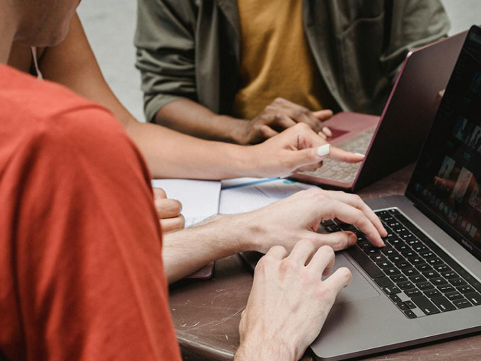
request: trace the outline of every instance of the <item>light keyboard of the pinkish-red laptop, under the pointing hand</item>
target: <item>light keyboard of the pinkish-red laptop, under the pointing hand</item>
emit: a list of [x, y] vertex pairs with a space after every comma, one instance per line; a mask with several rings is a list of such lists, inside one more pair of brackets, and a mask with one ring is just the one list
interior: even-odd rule
[[[376, 128], [373, 127], [365, 132], [361, 132], [349, 138], [345, 144], [340, 144], [339, 147], [352, 153], [366, 154], [375, 130]], [[308, 176], [330, 179], [331, 181], [349, 183], [354, 181], [360, 166], [361, 163], [344, 163], [327, 158], [323, 161], [322, 167], [313, 172], [306, 171], [302, 173]]]

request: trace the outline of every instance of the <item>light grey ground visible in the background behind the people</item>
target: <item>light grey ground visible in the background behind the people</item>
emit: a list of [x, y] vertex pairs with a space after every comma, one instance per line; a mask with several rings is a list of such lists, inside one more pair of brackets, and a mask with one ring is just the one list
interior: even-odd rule
[[[481, 24], [481, 0], [441, 1], [451, 18], [451, 34]], [[140, 76], [134, 68], [137, 1], [83, 0], [79, 15], [108, 84], [125, 107], [144, 120]]]

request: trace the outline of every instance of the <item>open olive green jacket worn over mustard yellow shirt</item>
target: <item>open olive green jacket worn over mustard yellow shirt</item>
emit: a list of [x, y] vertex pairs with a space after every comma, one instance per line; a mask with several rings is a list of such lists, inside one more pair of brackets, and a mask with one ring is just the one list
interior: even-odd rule
[[[178, 98], [231, 114], [241, 56], [237, 0], [138, 1], [146, 119]], [[315, 63], [342, 110], [381, 113], [407, 52], [449, 28], [439, 0], [299, 1]]]

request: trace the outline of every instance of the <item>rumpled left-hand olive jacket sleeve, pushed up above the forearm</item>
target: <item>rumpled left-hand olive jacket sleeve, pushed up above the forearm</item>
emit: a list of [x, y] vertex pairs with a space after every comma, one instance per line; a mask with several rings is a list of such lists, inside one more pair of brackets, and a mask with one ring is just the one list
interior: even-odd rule
[[196, 8], [190, 0], [139, 0], [136, 67], [141, 71], [144, 112], [151, 122], [178, 98], [197, 101]]

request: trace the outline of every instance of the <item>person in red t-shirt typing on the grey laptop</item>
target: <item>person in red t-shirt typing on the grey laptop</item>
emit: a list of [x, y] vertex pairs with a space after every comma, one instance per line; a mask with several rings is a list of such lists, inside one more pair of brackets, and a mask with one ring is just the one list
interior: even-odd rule
[[381, 223], [357, 196], [308, 190], [162, 242], [149, 171], [112, 114], [5, 65], [14, 41], [62, 42], [77, 4], [0, 1], [0, 358], [180, 360], [167, 283], [255, 250], [267, 254], [236, 360], [299, 359], [350, 279], [340, 268], [321, 280], [332, 248], [356, 240], [316, 234], [320, 220], [355, 224], [376, 246]]

